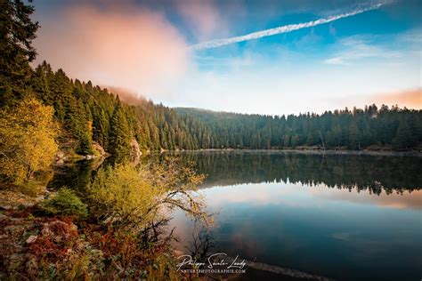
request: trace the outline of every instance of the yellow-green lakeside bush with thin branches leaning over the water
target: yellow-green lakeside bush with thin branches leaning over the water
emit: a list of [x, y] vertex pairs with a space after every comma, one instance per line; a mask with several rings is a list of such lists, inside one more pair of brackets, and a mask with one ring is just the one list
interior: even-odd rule
[[135, 231], [166, 220], [168, 209], [173, 208], [205, 218], [204, 203], [195, 192], [203, 178], [174, 161], [109, 166], [99, 170], [89, 189], [91, 212], [109, 226]]

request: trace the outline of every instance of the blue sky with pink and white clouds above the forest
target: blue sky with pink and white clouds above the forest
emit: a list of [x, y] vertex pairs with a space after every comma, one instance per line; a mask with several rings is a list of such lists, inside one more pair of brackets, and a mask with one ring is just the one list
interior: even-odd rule
[[422, 108], [419, 0], [35, 0], [36, 62], [169, 107]]

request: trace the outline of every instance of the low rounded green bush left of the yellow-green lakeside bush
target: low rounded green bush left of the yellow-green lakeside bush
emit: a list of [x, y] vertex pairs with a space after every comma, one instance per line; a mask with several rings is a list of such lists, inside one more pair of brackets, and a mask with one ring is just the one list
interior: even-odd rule
[[50, 215], [64, 214], [86, 217], [88, 214], [86, 205], [73, 190], [66, 187], [61, 188], [55, 197], [41, 202], [39, 206], [44, 213]]

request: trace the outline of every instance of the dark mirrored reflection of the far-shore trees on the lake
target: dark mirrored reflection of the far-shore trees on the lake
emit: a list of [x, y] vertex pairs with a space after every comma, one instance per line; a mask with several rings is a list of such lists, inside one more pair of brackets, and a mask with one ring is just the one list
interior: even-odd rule
[[301, 153], [183, 153], [207, 174], [203, 187], [259, 182], [325, 184], [380, 194], [422, 188], [422, 157]]

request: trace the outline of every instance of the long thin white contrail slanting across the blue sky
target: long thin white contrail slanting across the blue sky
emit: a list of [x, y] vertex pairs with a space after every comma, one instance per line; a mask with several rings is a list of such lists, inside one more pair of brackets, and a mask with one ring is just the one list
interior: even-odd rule
[[265, 36], [273, 36], [273, 35], [277, 35], [277, 34], [281, 34], [281, 33], [288, 33], [290, 31], [294, 31], [294, 30], [302, 29], [302, 28], [311, 28], [311, 27], [314, 27], [314, 26], [318, 26], [320, 24], [324, 24], [324, 23], [334, 21], [334, 20], [340, 20], [340, 19], [343, 19], [343, 18], [351, 17], [351, 16], [354, 16], [354, 15], [362, 13], [362, 12], [368, 12], [368, 11], [371, 11], [371, 10], [376, 10], [379, 7], [381, 7], [385, 4], [388, 4], [390, 2], [391, 1], [377, 3], [377, 4], [371, 4], [366, 8], [356, 9], [356, 10], [353, 10], [351, 12], [340, 13], [340, 14], [337, 14], [335, 16], [331, 16], [329, 18], [322, 18], [322, 19], [319, 19], [319, 20], [312, 20], [312, 21], [297, 23], [297, 24], [289, 24], [287, 26], [282, 26], [282, 27], [278, 27], [278, 28], [265, 29], [265, 30], [261, 30], [261, 31], [252, 32], [252, 33], [249, 33], [249, 34], [244, 35], [244, 36], [235, 36], [235, 37], [231, 37], [231, 38], [215, 39], [215, 40], [211, 40], [211, 41], [207, 41], [207, 42], [203, 42], [203, 43], [199, 43], [199, 44], [193, 44], [193, 45], [191, 45], [191, 49], [193, 49], [193, 50], [203, 50], [203, 49], [217, 48], [217, 47], [220, 47], [220, 46], [223, 46], [223, 45], [226, 45], [226, 44], [233, 44], [233, 43], [238, 43], [238, 42], [242, 42], [242, 41], [258, 39], [258, 38], [265, 37]]

